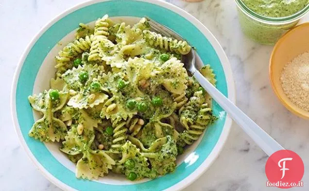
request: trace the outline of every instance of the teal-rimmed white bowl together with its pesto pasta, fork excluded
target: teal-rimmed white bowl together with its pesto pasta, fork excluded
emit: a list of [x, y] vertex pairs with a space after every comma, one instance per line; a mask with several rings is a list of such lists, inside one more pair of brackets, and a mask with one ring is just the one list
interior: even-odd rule
[[[151, 30], [149, 17], [186, 41]], [[160, 0], [90, 0], [47, 24], [17, 67], [12, 116], [63, 190], [176, 191], [219, 155], [231, 119], [185, 69], [235, 101], [228, 59], [196, 18]]]

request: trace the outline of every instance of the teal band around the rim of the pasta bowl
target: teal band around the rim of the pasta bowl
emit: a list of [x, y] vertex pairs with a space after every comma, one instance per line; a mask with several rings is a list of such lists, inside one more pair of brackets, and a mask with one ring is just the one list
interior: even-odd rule
[[30, 52], [27, 54], [23, 62], [17, 79], [14, 103], [16, 108], [13, 108], [13, 110], [16, 109], [17, 122], [19, 124], [21, 135], [38, 163], [54, 178], [73, 189], [79, 191], [95, 191], [101, 189], [108, 191], [158, 191], [168, 189], [197, 170], [217, 144], [220, 135], [223, 132], [226, 113], [215, 102], [213, 102], [212, 109], [214, 114], [219, 116], [219, 119], [214, 124], [207, 127], [201, 142], [191, 153], [191, 155], [193, 154], [195, 156], [194, 160], [182, 162], [172, 174], [167, 174], [152, 181], [143, 183], [111, 185], [96, 181], [77, 179], [74, 172], [71, 172], [51, 155], [45, 144], [28, 136], [28, 132], [34, 123], [34, 116], [27, 98], [29, 95], [33, 94], [34, 81], [45, 57], [64, 36], [75, 30], [79, 23], [94, 21], [97, 18], [102, 17], [104, 14], [108, 14], [109, 17], [148, 16], [171, 28], [187, 39], [189, 43], [196, 48], [203, 63], [210, 64], [217, 77], [217, 88], [225, 96], [228, 96], [224, 70], [214, 47], [206, 39], [203, 33], [189, 22], [189, 20], [167, 8], [145, 1], [103, 1], [82, 7], [60, 18], [41, 36], [39, 36], [31, 47]]

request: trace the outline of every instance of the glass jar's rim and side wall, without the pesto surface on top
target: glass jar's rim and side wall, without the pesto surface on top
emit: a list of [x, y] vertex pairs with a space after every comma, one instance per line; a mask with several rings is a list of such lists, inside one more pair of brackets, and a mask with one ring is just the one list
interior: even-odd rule
[[235, 0], [242, 32], [251, 39], [266, 45], [275, 42], [309, 11], [309, 4], [288, 17], [265, 17], [250, 10], [242, 0]]

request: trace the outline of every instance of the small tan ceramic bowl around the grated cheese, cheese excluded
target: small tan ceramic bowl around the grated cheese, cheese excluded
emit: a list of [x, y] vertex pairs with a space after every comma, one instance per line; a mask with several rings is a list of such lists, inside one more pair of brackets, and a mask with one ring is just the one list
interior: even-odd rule
[[301, 24], [283, 35], [275, 45], [270, 58], [269, 75], [280, 102], [297, 116], [309, 119], [309, 112], [300, 109], [285, 95], [280, 84], [283, 67], [297, 55], [309, 51], [309, 23]]

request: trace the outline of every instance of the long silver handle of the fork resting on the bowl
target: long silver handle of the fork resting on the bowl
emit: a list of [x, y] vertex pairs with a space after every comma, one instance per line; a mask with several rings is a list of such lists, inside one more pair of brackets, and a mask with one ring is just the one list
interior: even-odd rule
[[227, 99], [216, 87], [214, 87], [198, 70], [193, 76], [201, 84], [207, 93], [226, 111], [226, 113], [253, 139], [257, 145], [268, 155], [284, 148], [269, 136], [261, 127], [252, 121], [240, 108]]

